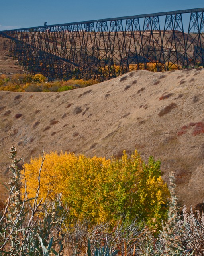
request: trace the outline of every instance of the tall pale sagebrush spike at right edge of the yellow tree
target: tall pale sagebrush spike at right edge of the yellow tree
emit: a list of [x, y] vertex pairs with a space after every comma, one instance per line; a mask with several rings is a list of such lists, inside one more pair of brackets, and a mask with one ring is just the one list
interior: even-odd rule
[[[171, 198], [169, 200], [169, 210], [168, 218], [164, 221], [162, 228], [160, 230], [159, 238], [152, 236], [152, 233], [147, 230], [145, 239], [141, 241], [140, 253], [139, 255], [144, 256], [191, 256], [191, 255], [203, 255], [195, 253], [194, 247], [190, 246], [191, 232], [186, 230], [186, 220], [189, 216], [193, 217], [194, 222], [197, 218], [191, 212], [190, 214], [186, 212], [184, 208], [184, 216], [180, 215], [178, 208], [178, 196], [175, 193], [175, 177], [172, 172], [169, 175], [169, 190]], [[198, 225], [199, 226], [199, 225]], [[194, 229], [192, 224], [189, 224], [188, 230]], [[191, 230], [192, 231], [192, 230]], [[198, 230], [197, 230], [198, 231]], [[187, 235], [188, 233], [188, 235]], [[197, 234], [197, 239], [199, 239], [198, 234], [201, 232], [195, 232]], [[203, 240], [204, 233], [202, 233]], [[200, 248], [201, 249], [201, 248]], [[203, 248], [200, 250], [203, 253]]]

